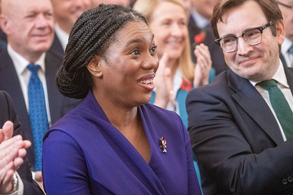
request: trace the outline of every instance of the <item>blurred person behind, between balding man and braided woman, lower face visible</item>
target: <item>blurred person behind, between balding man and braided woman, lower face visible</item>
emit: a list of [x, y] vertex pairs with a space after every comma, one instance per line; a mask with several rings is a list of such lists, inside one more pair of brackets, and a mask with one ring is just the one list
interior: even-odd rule
[[91, 0], [51, 0], [54, 10], [55, 37], [50, 50], [64, 56], [70, 30], [77, 18], [91, 8]]

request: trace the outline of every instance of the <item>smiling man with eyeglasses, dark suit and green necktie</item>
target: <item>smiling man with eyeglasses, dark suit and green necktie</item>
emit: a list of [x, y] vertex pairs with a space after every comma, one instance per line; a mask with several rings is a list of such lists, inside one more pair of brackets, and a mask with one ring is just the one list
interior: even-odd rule
[[188, 94], [205, 195], [293, 194], [293, 69], [275, 0], [219, 0], [211, 27], [229, 70]]

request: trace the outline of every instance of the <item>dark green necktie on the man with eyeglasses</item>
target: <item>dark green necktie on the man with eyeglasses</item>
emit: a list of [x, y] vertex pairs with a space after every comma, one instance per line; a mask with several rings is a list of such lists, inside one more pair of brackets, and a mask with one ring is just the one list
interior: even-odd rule
[[259, 82], [257, 85], [269, 92], [272, 108], [275, 111], [288, 140], [293, 137], [293, 112], [276, 83], [277, 81], [270, 79]]

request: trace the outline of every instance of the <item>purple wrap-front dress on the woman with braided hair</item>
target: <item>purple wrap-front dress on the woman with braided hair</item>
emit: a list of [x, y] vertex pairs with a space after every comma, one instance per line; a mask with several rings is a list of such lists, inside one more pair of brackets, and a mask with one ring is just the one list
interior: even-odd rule
[[[174, 112], [138, 107], [151, 155], [147, 164], [89, 92], [43, 139], [49, 195], [201, 195], [188, 132]], [[166, 139], [166, 153], [160, 138]]]

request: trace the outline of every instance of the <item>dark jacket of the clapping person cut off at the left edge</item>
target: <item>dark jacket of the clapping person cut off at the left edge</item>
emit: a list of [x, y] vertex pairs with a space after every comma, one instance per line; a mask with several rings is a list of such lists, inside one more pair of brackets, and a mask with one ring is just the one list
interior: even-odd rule
[[[7, 120], [14, 123], [13, 136], [22, 135], [21, 123], [17, 116], [11, 97], [6, 92], [0, 91], [0, 128], [2, 128], [3, 124]], [[24, 195], [43, 195], [41, 188], [32, 178], [32, 173], [29, 169], [26, 157], [23, 158], [23, 164], [17, 172], [21, 176], [21, 180], [24, 185]]]

